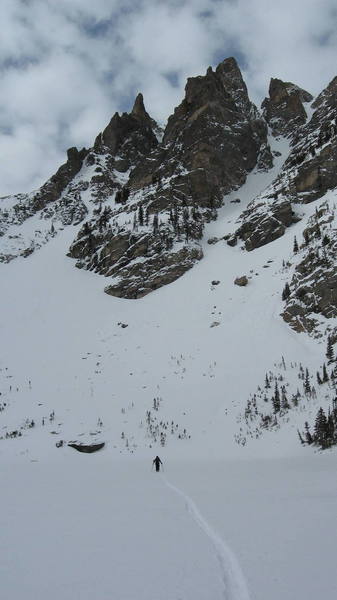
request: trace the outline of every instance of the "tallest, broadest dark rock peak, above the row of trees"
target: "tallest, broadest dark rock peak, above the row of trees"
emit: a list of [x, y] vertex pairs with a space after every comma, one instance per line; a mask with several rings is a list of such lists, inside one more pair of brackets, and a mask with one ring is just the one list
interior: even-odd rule
[[226, 59], [215, 72], [209, 68], [205, 76], [188, 79], [162, 145], [134, 169], [130, 186], [139, 189], [173, 176], [160, 196], [172, 202], [184, 195], [188, 204], [212, 210], [256, 165], [272, 164], [266, 134], [236, 61]]

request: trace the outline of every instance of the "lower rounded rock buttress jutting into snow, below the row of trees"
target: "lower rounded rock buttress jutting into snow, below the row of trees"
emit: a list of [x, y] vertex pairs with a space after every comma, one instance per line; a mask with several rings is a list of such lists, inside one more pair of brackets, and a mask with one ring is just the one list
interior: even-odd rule
[[138, 224], [134, 230], [107, 227], [103, 213], [93, 229], [88, 223], [84, 225], [70, 247], [69, 256], [78, 259], [76, 265], [80, 268], [114, 277], [114, 283], [106, 287], [108, 294], [140, 298], [171, 283], [203, 256], [199, 244], [188, 239], [186, 229], [198, 238], [200, 224], [186, 221], [184, 230], [183, 216], [177, 214], [176, 218], [178, 223], [181, 219], [181, 232], [175, 239], [174, 225], [160, 227], [158, 222], [154, 228], [153, 223], [149, 226], [142, 221], [143, 225]]

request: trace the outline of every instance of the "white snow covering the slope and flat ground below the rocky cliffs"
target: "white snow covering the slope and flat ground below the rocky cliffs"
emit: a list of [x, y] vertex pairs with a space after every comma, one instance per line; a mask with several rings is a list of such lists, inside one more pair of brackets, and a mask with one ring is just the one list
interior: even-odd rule
[[[283, 356], [287, 367], [301, 362], [315, 373], [325, 351], [280, 317], [282, 262], [323, 199], [299, 207], [303, 219], [254, 252], [207, 244], [233, 231], [273, 175], [253, 173], [226, 197], [204, 259], [142, 299], [109, 297], [102, 277], [74, 268], [65, 254], [76, 227], [1, 265], [1, 435], [22, 433], [0, 440], [6, 597], [336, 592], [335, 456], [315, 456], [297, 436], [330, 398], [293, 409], [280, 429], [244, 446], [236, 441], [266, 371]], [[243, 274], [248, 285], [235, 286]], [[56, 448], [59, 440], [106, 447], [87, 456]], [[150, 473], [157, 453], [164, 478]]]

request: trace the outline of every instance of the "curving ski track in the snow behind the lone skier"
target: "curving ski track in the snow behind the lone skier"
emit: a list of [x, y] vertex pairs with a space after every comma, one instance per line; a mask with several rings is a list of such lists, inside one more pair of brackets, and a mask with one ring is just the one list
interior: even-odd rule
[[165, 485], [185, 501], [187, 512], [211, 540], [221, 569], [225, 600], [250, 600], [244, 575], [232, 550], [225, 544], [221, 537], [213, 531], [192, 498], [170, 483], [164, 475], [161, 475], [161, 477]]

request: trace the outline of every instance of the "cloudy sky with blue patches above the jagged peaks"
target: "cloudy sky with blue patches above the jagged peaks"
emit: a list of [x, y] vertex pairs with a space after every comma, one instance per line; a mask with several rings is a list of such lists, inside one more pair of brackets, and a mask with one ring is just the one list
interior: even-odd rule
[[30, 191], [144, 94], [165, 122], [188, 76], [235, 56], [317, 94], [337, 75], [336, 0], [1, 0], [0, 195]]

